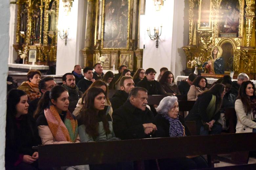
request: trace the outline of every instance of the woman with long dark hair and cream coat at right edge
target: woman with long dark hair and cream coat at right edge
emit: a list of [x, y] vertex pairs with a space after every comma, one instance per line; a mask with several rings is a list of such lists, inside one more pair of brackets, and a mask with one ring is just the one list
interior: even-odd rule
[[256, 132], [256, 95], [254, 84], [244, 81], [235, 102], [236, 133]]

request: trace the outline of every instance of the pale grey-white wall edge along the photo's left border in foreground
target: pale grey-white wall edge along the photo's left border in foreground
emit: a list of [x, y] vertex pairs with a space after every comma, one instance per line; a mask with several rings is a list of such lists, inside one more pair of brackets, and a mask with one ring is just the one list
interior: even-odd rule
[[9, 55], [10, 0], [0, 1], [0, 169], [5, 169], [6, 90]]

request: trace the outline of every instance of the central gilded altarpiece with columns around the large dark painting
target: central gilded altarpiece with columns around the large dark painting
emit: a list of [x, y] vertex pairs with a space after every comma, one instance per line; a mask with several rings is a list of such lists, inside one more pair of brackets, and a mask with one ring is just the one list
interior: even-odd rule
[[[139, 49], [140, 0], [87, 0], [84, 66], [93, 66], [104, 56], [104, 69], [126, 65], [142, 67]], [[115, 66], [114, 66], [115, 65]]]

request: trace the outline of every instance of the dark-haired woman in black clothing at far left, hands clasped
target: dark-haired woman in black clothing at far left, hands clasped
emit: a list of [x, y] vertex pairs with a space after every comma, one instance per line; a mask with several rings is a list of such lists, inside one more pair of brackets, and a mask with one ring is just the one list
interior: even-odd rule
[[28, 114], [28, 97], [13, 89], [7, 95], [5, 168], [34, 170], [38, 152], [32, 146], [41, 144], [32, 115]]

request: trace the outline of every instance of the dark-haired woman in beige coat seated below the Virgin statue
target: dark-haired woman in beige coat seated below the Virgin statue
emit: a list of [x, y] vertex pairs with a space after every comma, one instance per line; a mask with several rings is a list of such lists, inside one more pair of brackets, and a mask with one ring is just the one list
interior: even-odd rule
[[198, 76], [194, 81], [193, 85], [190, 86], [190, 89], [187, 93], [187, 100], [197, 100], [198, 94], [203, 93], [207, 90], [207, 79], [203, 76]]

